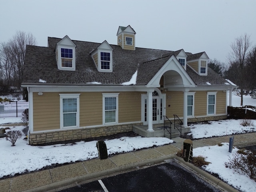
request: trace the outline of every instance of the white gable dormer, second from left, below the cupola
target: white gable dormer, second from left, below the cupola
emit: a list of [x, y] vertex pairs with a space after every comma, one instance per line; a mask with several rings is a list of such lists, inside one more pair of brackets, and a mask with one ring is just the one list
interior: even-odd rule
[[112, 52], [113, 49], [106, 40], [91, 52], [92, 58], [99, 72], [113, 71]]

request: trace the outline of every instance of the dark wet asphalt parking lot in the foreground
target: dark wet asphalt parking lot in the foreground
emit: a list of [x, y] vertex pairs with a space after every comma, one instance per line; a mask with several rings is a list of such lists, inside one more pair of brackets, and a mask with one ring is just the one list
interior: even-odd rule
[[90, 183], [76, 184], [58, 192], [220, 192], [191, 170], [175, 160], [102, 178]]

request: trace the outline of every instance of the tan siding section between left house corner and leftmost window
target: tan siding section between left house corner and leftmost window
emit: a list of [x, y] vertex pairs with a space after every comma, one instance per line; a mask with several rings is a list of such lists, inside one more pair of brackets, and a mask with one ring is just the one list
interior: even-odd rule
[[60, 96], [58, 93], [33, 93], [34, 131], [60, 128]]

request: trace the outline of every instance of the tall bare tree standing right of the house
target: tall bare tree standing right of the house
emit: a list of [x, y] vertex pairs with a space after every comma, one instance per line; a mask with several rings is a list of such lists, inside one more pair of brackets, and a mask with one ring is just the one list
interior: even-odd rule
[[236, 84], [240, 87], [241, 105], [243, 105], [243, 94], [245, 86], [245, 76], [246, 76], [246, 57], [248, 56], [250, 48], [250, 36], [244, 34], [234, 40], [231, 44], [231, 52], [228, 55], [228, 60], [230, 64], [237, 65], [238, 73], [236, 74]]

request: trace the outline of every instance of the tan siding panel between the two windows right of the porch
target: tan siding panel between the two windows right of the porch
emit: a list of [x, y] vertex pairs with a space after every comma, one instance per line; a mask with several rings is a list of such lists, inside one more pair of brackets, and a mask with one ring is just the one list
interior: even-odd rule
[[194, 97], [194, 116], [207, 115], [207, 91], [196, 91]]

